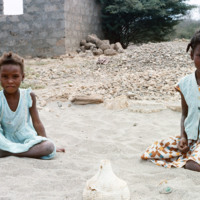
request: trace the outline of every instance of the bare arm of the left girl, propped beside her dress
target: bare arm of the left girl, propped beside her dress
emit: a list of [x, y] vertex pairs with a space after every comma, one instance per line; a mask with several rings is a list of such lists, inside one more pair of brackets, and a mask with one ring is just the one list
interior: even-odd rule
[[33, 101], [32, 107], [29, 108], [32, 122], [33, 122], [33, 127], [35, 128], [39, 136], [47, 137], [44, 126], [40, 120], [39, 113], [36, 107], [36, 96], [32, 92], [30, 93], [30, 95]]

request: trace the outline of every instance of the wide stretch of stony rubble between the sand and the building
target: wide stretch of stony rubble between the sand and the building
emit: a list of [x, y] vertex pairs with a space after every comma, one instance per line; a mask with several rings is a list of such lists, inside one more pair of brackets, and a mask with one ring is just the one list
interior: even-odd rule
[[174, 86], [195, 71], [187, 44], [182, 40], [148, 43], [130, 45], [114, 56], [27, 60], [32, 71], [25, 83], [43, 85], [37, 93], [45, 101], [66, 101], [74, 95], [101, 95], [104, 100], [125, 95], [137, 101], [178, 102], [180, 94]]

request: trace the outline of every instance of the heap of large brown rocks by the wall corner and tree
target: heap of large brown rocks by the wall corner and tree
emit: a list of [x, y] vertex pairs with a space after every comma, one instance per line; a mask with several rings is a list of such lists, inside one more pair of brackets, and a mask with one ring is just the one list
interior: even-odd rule
[[88, 35], [86, 40], [81, 40], [80, 48], [77, 52], [92, 51], [93, 55], [113, 56], [117, 53], [123, 53], [124, 49], [120, 42], [110, 44], [109, 40], [100, 40], [96, 35]]

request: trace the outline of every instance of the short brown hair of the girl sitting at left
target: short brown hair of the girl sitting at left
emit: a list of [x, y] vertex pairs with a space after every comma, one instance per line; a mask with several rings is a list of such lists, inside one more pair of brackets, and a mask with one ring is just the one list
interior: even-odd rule
[[3, 53], [3, 55], [0, 57], [0, 69], [3, 65], [8, 64], [19, 65], [22, 70], [22, 74], [24, 73], [24, 59], [19, 55], [13, 52]]

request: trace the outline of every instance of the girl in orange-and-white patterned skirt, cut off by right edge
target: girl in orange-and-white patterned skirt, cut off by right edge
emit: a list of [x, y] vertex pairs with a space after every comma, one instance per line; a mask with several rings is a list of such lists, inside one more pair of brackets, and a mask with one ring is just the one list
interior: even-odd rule
[[141, 156], [164, 167], [200, 171], [200, 31], [187, 46], [196, 71], [182, 78], [175, 89], [181, 94], [181, 135], [155, 142]]

